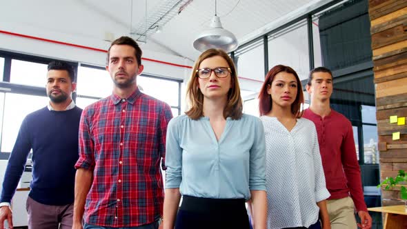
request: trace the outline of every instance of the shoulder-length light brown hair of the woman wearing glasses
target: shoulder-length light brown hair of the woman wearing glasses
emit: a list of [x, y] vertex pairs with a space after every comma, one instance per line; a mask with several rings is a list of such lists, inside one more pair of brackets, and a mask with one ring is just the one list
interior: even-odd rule
[[216, 56], [223, 57], [226, 62], [228, 62], [230, 68], [230, 77], [232, 80], [232, 87], [228, 92], [228, 103], [224, 108], [224, 117], [225, 119], [227, 117], [230, 117], [232, 119], [240, 119], [243, 115], [243, 102], [240, 96], [240, 87], [239, 81], [237, 80], [235, 63], [233, 63], [232, 59], [226, 52], [224, 52], [224, 50], [211, 48], [209, 50], [206, 50], [205, 52], [202, 52], [197, 61], [195, 61], [194, 67], [192, 68], [190, 80], [188, 81], [186, 97], [189, 103], [188, 105], [190, 107], [190, 110], [185, 113], [191, 119], [196, 120], [200, 117], [203, 117], [203, 94], [201, 90], [199, 90], [196, 71], [203, 60]]

